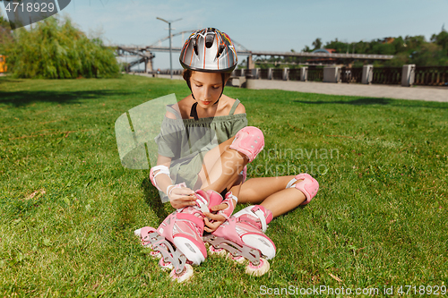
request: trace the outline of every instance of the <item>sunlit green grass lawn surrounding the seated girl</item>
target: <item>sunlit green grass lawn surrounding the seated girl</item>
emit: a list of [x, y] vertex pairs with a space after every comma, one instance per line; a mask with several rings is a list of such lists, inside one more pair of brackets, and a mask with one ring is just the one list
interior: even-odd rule
[[234, 88], [226, 94], [266, 140], [251, 176], [307, 166], [321, 190], [271, 222], [278, 251], [265, 276], [212, 256], [186, 285], [171, 283], [133, 231], [158, 226], [172, 208], [148, 171], [121, 166], [114, 131], [119, 115], [169, 93], [189, 92], [182, 81], [138, 76], [0, 78], [0, 296], [447, 284], [448, 104]]

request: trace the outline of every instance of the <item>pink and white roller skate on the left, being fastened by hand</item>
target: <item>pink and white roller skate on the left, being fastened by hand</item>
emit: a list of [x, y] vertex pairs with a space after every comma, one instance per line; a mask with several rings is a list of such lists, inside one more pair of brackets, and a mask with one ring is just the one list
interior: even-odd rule
[[135, 230], [142, 245], [150, 247], [151, 256], [160, 258], [159, 266], [172, 269], [170, 277], [181, 283], [193, 277], [193, 265], [199, 265], [207, 257], [202, 242], [203, 214], [219, 205], [222, 197], [218, 192], [199, 190], [194, 193], [196, 206], [177, 209], [155, 229], [145, 226]]

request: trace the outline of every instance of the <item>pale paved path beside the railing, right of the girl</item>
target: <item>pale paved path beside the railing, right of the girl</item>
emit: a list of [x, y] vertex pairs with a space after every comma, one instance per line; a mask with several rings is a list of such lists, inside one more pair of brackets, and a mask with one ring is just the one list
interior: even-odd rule
[[248, 80], [246, 87], [248, 89], [282, 89], [306, 93], [361, 96], [366, 98], [402, 98], [448, 102], [448, 87], [401, 87], [275, 80]]

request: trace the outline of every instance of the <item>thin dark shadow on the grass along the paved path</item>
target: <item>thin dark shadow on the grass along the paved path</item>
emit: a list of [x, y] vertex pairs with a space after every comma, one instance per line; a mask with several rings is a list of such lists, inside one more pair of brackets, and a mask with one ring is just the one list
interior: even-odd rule
[[[293, 102], [306, 104], [306, 105], [327, 105], [327, 104], [340, 104], [340, 105], [351, 105], [351, 106], [368, 106], [368, 105], [392, 105], [392, 106], [409, 106], [409, 107], [429, 107], [429, 108], [442, 108], [446, 109], [445, 103], [439, 102], [431, 102], [424, 103], [419, 100], [409, 100], [409, 105], [401, 105], [397, 103], [401, 103], [404, 99], [391, 99], [391, 98], [358, 98], [354, 100], [318, 100], [318, 101], [305, 101], [305, 100], [293, 100]], [[445, 105], [445, 106], [442, 106]]]

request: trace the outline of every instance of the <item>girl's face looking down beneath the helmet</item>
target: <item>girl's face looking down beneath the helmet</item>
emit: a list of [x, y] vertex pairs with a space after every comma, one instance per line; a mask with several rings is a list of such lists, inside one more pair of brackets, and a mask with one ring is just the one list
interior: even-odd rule
[[220, 99], [222, 86], [221, 74], [217, 72], [193, 72], [190, 78], [194, 98], [198, 106], [210, 108]]

